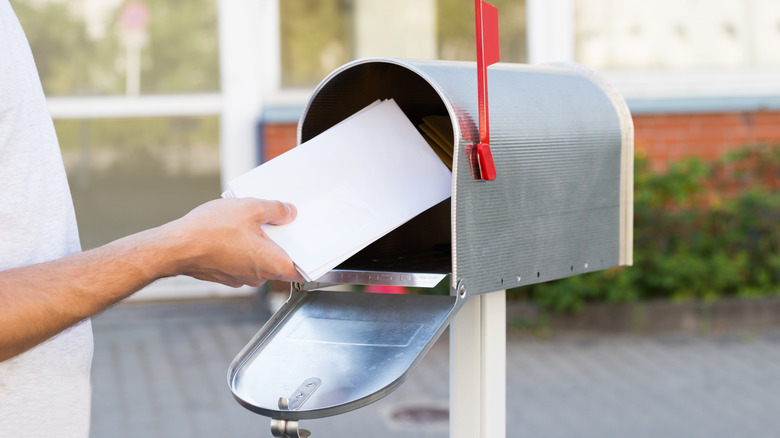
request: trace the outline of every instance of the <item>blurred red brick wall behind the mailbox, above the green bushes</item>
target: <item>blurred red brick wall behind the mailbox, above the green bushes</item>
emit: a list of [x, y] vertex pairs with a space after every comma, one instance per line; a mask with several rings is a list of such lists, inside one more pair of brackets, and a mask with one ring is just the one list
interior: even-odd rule
[[[295, 146], [296, 123], [266, 125], [264, 159]], [[653, 169], [696, 156], [707, 160], [749, 144], [780, 142], [780, 111], [634, 115], [634, 144]]]

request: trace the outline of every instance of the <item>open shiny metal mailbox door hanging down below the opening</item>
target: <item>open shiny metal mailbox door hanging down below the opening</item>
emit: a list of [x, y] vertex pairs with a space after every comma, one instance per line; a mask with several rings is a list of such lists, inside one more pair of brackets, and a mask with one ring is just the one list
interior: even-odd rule
[[[463, 301], [293, 290], [233, 360], [228, 384], [245, 408], [278, 420], [320, 418], [365, 406], [408, 377]], [[321, 384], [304, 394], [305, 403], [294, 405], [291, 394], [314, 377]], [[283, 397], [288, 402], [280, 406]]]

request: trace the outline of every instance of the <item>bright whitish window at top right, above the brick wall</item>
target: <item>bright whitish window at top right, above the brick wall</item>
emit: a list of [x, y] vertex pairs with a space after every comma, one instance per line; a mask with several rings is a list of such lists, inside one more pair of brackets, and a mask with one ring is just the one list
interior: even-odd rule
[[777, 0], [576, 0], [575, 59], [596, 69], [780, 66]]

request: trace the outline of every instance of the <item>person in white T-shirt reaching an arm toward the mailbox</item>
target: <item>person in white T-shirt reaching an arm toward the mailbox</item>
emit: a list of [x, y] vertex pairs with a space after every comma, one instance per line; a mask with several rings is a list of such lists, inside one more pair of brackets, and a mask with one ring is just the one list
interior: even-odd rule
[[156, 279], [300, 281], [260, 229], [295, 207], [220, 199], [81, 252], [54, 125], [29, 44], [0, 0], [0, 436], [86, 437], [89, 317]]

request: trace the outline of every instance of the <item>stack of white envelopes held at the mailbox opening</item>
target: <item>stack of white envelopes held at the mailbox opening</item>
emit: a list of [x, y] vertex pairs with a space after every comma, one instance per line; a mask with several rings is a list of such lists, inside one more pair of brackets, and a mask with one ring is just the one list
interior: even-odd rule
[[228, 186], [224, 197], [297, 207], [292, 223], [266, 224], [263, 230], [314, 281], [450, 197], [452, 174], [398, 105], [386, 100]]

